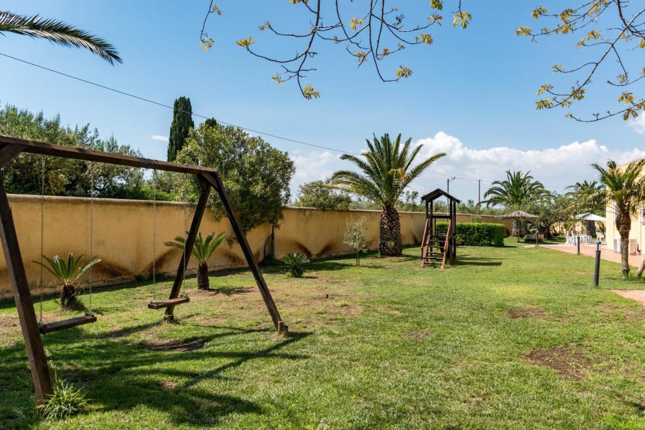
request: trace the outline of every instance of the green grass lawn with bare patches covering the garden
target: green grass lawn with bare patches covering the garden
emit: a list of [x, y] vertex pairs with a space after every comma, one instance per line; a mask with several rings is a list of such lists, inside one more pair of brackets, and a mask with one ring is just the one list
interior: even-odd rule
[[[45, 337], [52, 367], [90, 399], [66, 421], [30, 412], [17, 314], [0, 302], [0, 423], [645, 428], [645, 308], [608, 291], [644, 283], [602, 261], [594, 289], [592, 258], [513, 239], [461, 247], [444, 271], [419, 269], [419, 254], [313, 261], [302, 279], [265, 268], [288, 336], [274, 333], [250, 272], [214, 274], [213, 292], [188, 280], [175, 324], [146, 309], [149, 283], [102, 289], [97, 323]], [[45, 311], [63, 318], [54, 297]]]

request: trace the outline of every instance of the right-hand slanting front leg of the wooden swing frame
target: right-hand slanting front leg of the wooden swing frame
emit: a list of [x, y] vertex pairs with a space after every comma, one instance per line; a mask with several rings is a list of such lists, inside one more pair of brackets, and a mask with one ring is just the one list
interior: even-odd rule
[[228, 199], [228, 194], [226, 194], [224, 184], [222, 183], [217, 173], [204, 173], [204, 178], [206, 178], [206, 180], [208, 180], [210, 184], [213, 185], [213, 188], [217, 191], [219, 198], [222, 200], [224, 210], [226, 210], [226, 216], [228, 216], [228, 221], [230, 221], [231, 227], [233, 227], [233, 232], [235, 232], [235, 236], [237, 237], [237, 241], [239, 241], [242, 252], [244, 252], [244, 257], [246, 258], [248, 267], [253, 272], [255, 283], [257, 283], [260, 294], [262, 294], [264, 304], [266, 305], [266, 309], [268, 309], [269, 314], [271, 315], [275, 329], [277, 329], [278, 332], [286, 332], [288, 330], [288, 327], [284, 325], [284, 322], [280, 317], [280, 312], [278, 312], [277, 307], [275, 307], [275, 302], [273, 302], [271, 292], [266, 286], [266, 282], [264, 281], [264, 277], [262, 276], [262, 272], [260, 271], [260, 267], [257, 264], [257, 261], [255, 261], [253, 251], [249, 246], [248, 241], [246, 241], [246, 235], [242, 230], [242, 226], [240, 225], [239, 220], [237, 220], [237, 215], [233, 210], [231, 201]]

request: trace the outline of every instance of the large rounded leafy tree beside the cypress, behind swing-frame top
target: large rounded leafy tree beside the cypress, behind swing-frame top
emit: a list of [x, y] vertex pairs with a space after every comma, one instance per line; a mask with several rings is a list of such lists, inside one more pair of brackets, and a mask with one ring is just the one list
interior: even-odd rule
[[[241, 128], [202, 124], [190, 132], [177, 161], [217, 169], [245, 232], [264, 223], [279, 225], [283, 220], [295, 167], [286, 152], [264, 139]], [[194, 181], [190, 184], [195, 199], [199, 186]], [[210, 207], [219, 221], [226, 212], [215, 194], [210, 195]]]

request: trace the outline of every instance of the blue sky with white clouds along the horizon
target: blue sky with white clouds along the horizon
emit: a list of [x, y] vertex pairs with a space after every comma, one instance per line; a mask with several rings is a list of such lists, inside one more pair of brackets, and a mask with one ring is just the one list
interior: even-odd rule
[[[557, 82], [551, 66], [577, 65], [585, 53], [575, 49], [578, 37], [540, 43], [515, 37], [517, 26], [534, 25], [533, 2], [504, 2], [502, 10], [495, 5], [501, 2], [467, 1], [473, 14], [467, 30], [453, 28], [446, 19], [430, 30], [433, 45], [412, 46], [384, 65], [392, 73], [399, 64], [412, 68], [412, 77], [399, 83], [381, 83], [371, 64], [357, 69], [343, 46], [319, 45], [311, 62], [319, 70], [306, 79], [323, 93], [315, 101], [304, 100], [291, 83], [271, 83], [278, 68], [235, 45], [252, 35], [258, 50], [291, 54], [297, 48], [292, 42], [261, 34], [257, 26], [268, 19], [276, 27], [299, 30], [306, 19], [301, 7], [286, 0], [217, 3], [223, 15], [212, 16], [208, 26], [215, 46], [204, 52], [199, 30], [206, 1], [5, 1], [3, 8], [12, 12], [63, 19], [104, 37], [117, 46], [124, 63], [110, 67], [88, 52], [11, 34], [0, 38], [0, 52], [169, 105], [188, 96], [194, 112], [315, 145], [359, 152], [373, 132], [401, 132], [426, 143], [428, 152], [449, 152], [433, 170], [461, 178], [491, 181], [506, 169], [532, 169], [545, 185], [561, 187], [591, 178], [592, 161], [645, 155], [639, 124], [630, 127], [621, 119], [582, 124], [565, 119], [562, 110], [535, 110], [537, 88]], [[429, 14], [425, 1], [391, 3], [401, 6], [411, 23]], [[446, 6], [442, 15], [449, 18], [451, 10]], [[172, 110], [5, 57], [0, 67], [3, 104], [60, 114], [71, 125], [90, 123], [145, 156], [165, 158], [166, 143], [152, 136], [168, 136]], [[607, 77], [614, 75], [608, 69]], [[610, 88], [591, 90], [577, 112], [617, 106]], [[295, 159], [294, 188], [350, 167], [336, 152], [266, 139]], [[445, 185], [445, 176], [428, 172], [413, 188], [424, 192]], [[454, 181], [451, 190], [464, 200], [477, 198], [475, 181]]]

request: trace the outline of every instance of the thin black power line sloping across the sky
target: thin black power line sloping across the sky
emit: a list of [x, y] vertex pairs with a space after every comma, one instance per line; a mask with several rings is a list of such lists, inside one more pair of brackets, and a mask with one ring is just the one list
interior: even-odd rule
[[[66, 73], [64, 73], [64, 72], [61, 72], [61, 71], [59, 71], [59, 70], [55, 70], [55, 69], [53, 69], [53, 68], [49, 68], [49, 67], [45, 67], [45, 66], [41, 66], [41, 65], [38, 65], [38, 64], [36, 64], [36, 63], [32, 63], [31, 61], [27, 61], [27, 60], [25, 60], [25, 59], [21, 59], [21, 58], [17, 58], [17, 57], [14, 57], [14, 56], [10, 56], [10, 55], [5, 54], [5, 53], [3, 53], [3, 52], [0, 52], [0, 56], [6, 57], [6, 58], [10, 58], [10, 59], [13, 59], [13, 60], [15, 60], [15, 61], [19, 61], [19, 62], [21, 62], [21, 63], [25, 63], [25, 64], [30, 65], [30, 66], [33, 66], [33, 67], [41, 68], [42, 70], [47, 70], [48, 72], [52, 72], [52, 73], [55, 73], [55, 74], [58, 74], [58, 75], [61, 75], [61, 76], [69, 77], [70, 79], [75, 79], [76, 81], [80, 81], [80, 82], [83, 82], [83, 83], [86, 83], [86, 84], [89, 84], [89, 85], [94, 85], [95, 87], [103, 88], [104, 90], [112, 91], [112, 92], [115, 92], [115, 93], [117, 93], [117, 94], [121, 94], [121, 95], [123, 95], [123, 96], [132, 97], [132, 98], [135, 98], [135, 99], [138, 99], [138, 100], [141, 100], [141, 101], [145, 101], [146, 103], [152, 103], [153, 105], [157, 105], [157, 106], [161, 106], [161, 107], [164, 107], [164, 108], [168, 108], [168, 109], [175, 110], [175, 108], [174, 108], [174, 107], [172, 107], [172, 106], [170, 106], [170, 105], [166, 105], [166, 104], [161, 103], [161, 102], [159, 102], [159, 101], [154, 101], [154, 100], [151, 100], [151, 99], [147, 99], [146, 97], [141, 97], [141, 96], [137, 96], [137, 95], [135, 95], [135, 94], [131, 94], [131, 93], [129, 93], [129, 92], [125, 92], [125, 91], [117, 90], [116, 88], [107, 87], [106, 85], [101, 85], [101, 84], [99, 84], [99, 83], [95, 83], [95, 82], [92, 82], [92, 81], [88, 81], [87, 79], [83, 79], [83, 78], [81, 78], [81, 77], [77, 77], [77, 76], [73, 76], [73, 75], [70, 75], [70, 74], [66, 74]], [[213, 118], [213, 116], [204, 116], [204, 115], [201, 115], [201, 114], [196, 114], [195, 112], [187, 112], [187, 111], [185, 111], [185, 110], [181, 110], [181, 109], [177, 109], [177, 110], [178, 110], [179, 112], [183, 112], [183, 113], [185, 113], [185, 114], [190, 114], [190, 115], [192, 115], [192, 116], [196, 116], [196, 117], [198, 117], [198, 118], [203, 118], [203, 119]], [[219, 122], [219, 123], [221, 123], [221, 124], [224, 124], [224, 125], [230, 125], [231, 127], [241, 128], [242, 130], [246, 130], [246, 131], [248, 131], [248, 132], [252, 132], [252, 133], [255, 133], [255, 134], [262, 134], [262, 135], [264, 135], [264, 136], [270, 136], [270, 137], [272, 137], [272, 138], [281, 139], [281, 140], [288, 141], [288, 142], [292, 142], [292, 143], [297, 143], [297, 144], [299, 144], [299, 145], [306, 145], [306, 146], [308, 146], [308, 147], [314, 147], [314, 148], [319, 148], [319, 149], [326, 149], [326, 150], [330, 150], [330, 151], [334, 151], [334, 152], [340, 152], [341, 154], [352, 154], [352, 155], [356, 155], [356, 156], [361, 156], [361, 155], [362, 155], [362, 154], [361, 154], [361, 153], [359, 153], [359, 152], [350, 152], [350, 151], [346, 151], [346, 150], [340, 150], [340, 149], [337, 149], [337, 148], [330, 148], [330, 147], [324, 147], [324, 146], [322, 146], [322, 145], [315, 145], [315, 144], [313, 144], [313, 143], [307, 143], [307, 142], [303, 142], [303, 141], [300, 141], [300, 140], [295, 140], [295, 139], [290, 139], [290, 138], [284, 138], [283, 136], [278, 136], [277, 134], [271, 134], [271, 133], [267, 133], [267, 132], [263, 132], [263, 131], [259, 131], [259, 130], [254, 130], [253, 128], [242, 127], [241, 125], [235, 125], [235, 124], [232, 124], [232, 123], [226, 123], [226, 122], [224, 122], [224, 121], [220, 121], [219, 119], [217, 119], [217, 122]], [[446, 177], [448, 177], [448, 178], [452, 178], [452, 179], [459, 179], [459, 180], [461, 180], [461, 181], [477, 182], [477, 181], [480, 181], [480, 180], [481, 180], [482, 182], [492, 183], [492, 181], [486, 181], [486, 180], [484, 180], [484, 179], [461, 178], [461, 177], [459, 177], [459, 176], [453, 176], [452, 174], [446, 174], [446, 173], [437, 172], [436, 170], [430, 170], [430, 169], [428, 169], [428, 172], [432, 172], [432, 173], [434, 173], [434, 174], [438, 174], [438, 175], [441, 175], [441, 176], [446, 176]], [[567, 187], [546, 187], [546, 186], [545, 186], [545, 188], [561, 188], [561, 189], [564, 189], [564, 188], [567, 188]]]

